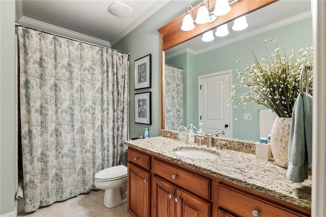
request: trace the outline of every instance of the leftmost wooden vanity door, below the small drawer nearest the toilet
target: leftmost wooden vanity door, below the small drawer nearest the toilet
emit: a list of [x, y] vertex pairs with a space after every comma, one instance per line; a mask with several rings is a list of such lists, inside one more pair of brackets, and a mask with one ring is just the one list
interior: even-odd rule
[[149, 215], [149, 172], [128, 162], [128, 212], [132, 216]]

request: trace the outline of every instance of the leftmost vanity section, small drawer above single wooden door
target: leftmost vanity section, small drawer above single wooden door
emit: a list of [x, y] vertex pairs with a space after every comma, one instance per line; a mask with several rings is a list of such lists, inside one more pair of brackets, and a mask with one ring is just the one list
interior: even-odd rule
[[150, 216], [150, 157], [128, 150], [127, 209], [133, 216]]

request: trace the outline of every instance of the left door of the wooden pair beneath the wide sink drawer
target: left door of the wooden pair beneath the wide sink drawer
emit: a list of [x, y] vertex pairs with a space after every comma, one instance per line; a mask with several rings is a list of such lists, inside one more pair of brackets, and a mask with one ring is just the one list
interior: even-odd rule
[[175, 216], [175, 186], [153, 176], [152, 179], [152, 216], [174, 217]]

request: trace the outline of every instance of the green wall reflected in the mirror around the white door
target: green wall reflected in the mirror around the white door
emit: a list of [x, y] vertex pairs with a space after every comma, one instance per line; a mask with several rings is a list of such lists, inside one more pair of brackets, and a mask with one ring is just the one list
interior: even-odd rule
[[[305, 31], [303, 31], [305, 30]], [[187, 124], [194, 123], [198, 126], [198, 76], [210, 74], [219, 71], [232, 69], [232, 83], [239, 84], [235, 69], [244, 69], [253, 63], [252, 51], [258, 59], [265, 55], [265, 45], [263, 41], [268, 38], [277, 39], [278, 46], [287, 45], [287, 49], [291, 48], [306, 48], [312, 46], [312, 21], [311, 18], [300, 20], [280, 28], [267, 31], [262, 34], [246, 38], [214, 50], [201, 53], [200, 55], [189, 55], [187, 53], [187, 73], [186, 73], [186, 90], [187, 97], [185, 101], [185, 113]], [[269, 47], [269, 53], [274, 50], [274, 46], [266, 43]], [[288, 52], [289, 53], [289, 52]], [[171, 65], [177, 61], [181, 61], [181, 55], [167, 60]], [[243, 63], [237, 63], [237, 60]], [[190, 62], [188, 64], [188, 61]], [[188, 65], [192, 66], [188, 66]], [[188, 67], [193, 69], [189, 72]], [[244, 70], [242, 70], [244, 71]], [[191, 94], [188, 94], [188, 91]], [[259, 140], [259, 112], [255, 111], [255, 106], [248, 106], [243, 113], [252, 113], [252, 120], [243, 120], [243, 113], [240, 113], [240, 108], [232, 109], [233, 116], [233, 138], [242, 140]], [[238, 116], [238, 120], [234, 120]]]

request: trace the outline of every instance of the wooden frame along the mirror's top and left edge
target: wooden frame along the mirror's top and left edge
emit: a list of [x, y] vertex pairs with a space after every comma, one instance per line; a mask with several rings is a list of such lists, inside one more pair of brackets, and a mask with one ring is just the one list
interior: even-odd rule
[[[208, 0], [210, 5], [215, 5], [216, 0]], [[274, 3], [278, 0], [239, 0], [237, 3], [231, 5], [231, 12], [219, 17], [216, 21], [206, 24], [196, 24], [195, 29], [192, 31], [182, 31], [181, 25], [184, 14], [168, 22], [157, 31], [161, 36], [161, 129], [165, 128], [165, 94], [164, 94], [164, 70], [165, 70], [165, 50], [174, 47], [182, 42], [192, 39], [204, 32], [214, 29], [219, 25], [227, 23], [237, 17], [244, 14], [248, 14], [266, 5]], [[194, 17], [197, 15], [197, 11], [200, 4], [194, 7]]]

